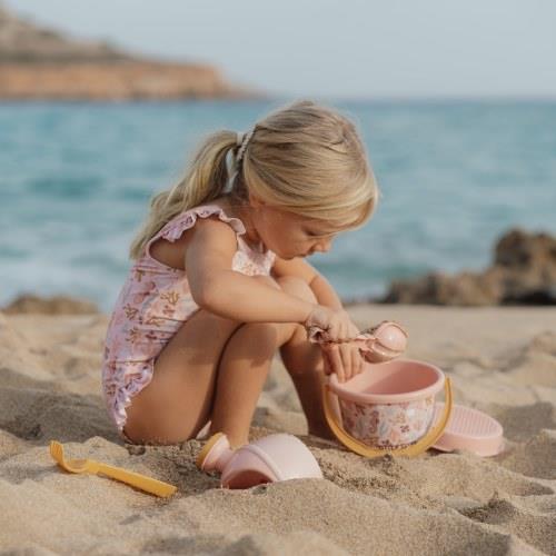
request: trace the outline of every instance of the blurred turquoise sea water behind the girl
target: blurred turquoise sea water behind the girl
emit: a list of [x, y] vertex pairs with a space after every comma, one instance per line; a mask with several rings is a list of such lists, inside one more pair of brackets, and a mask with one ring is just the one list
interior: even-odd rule
[[[0, 304], [63, 294], [109, 310], [150, 197], [199, 138], [285, 101], [0, 105]], [[556, 232], [556, 102], [329, 102], [359, 127], [381, 198], [308, 260], [344, 298], [480, 270], [510, 227]]]

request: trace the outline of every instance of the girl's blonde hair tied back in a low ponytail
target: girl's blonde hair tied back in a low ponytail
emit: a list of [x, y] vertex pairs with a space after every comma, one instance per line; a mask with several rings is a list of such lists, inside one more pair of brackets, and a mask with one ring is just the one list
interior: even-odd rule
[[276, 109], [256, 123], [239, 163], [238, 150], [235, 131], [205, 139], [186, 176], [152, 198], [131, 244], [132, 259], [173, 217], [226, 192], [238, 203], [255, 195], [269, 206], [326, 221], [330, 231], [357, 228], [376, 209], [378, 187], [365, 147], [355, 125], [332, 108], [300, 100]]

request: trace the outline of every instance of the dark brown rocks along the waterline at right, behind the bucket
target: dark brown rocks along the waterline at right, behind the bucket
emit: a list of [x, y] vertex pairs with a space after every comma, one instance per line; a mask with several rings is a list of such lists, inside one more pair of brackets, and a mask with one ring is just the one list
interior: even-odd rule
[[556, 238], [513, 229], [495, 247], [494, 264], [484, 272], [448, 276], [431, 272], [394, 280], [386, 304], [556, 305]]

